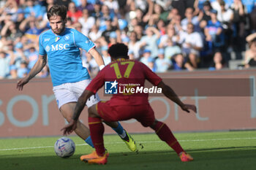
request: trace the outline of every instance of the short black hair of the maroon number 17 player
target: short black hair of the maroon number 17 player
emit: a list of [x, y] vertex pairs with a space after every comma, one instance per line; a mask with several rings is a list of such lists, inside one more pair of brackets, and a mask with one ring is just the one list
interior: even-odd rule
[[108, 49], [108, 53], [110, 57], [114, 59], [117, 59], [117, 58], [129, 59], [128, 47], [123, 43], [116, 43], [114, 45], [111, 45], [111, 47], [109, 47]]

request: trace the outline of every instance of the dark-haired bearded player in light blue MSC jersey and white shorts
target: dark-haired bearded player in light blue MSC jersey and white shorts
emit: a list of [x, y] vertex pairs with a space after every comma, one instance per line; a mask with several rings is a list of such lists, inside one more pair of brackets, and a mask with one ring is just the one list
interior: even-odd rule
[[[89, 72], [82, 65], [80, 58], [80, 48], [86, 50], [94, 58], [99, 69], [103, 69], [104, 61], [102, 56], [95, 50], [95, 45], [91, 40], [72, 28], [66, 28], [67, 9], [64, 6], [54, 5], [48, 10], [48, 20], [50, 30], [43, 32], [39, 36], [39, 57], [37, 63], [29, 74], [18, 81], [18, 90], [23, 90], [23, 86], [38, 74], [48, 61], [50, 77], [53, 82], [53, 93], [59, 110], [63, 117], [69, 122], [75, 111], [75, 105], [83, 90], [91, 82]], [[87, 107], [91, 107], [99, 102], [96, 94], [86, 102]], [[124, 130], [118, 122], [106, 123], [123, 139], [133, 152], [137, 151], [135, 141]], [[85, 140], [91, 147], [90, 131], [86, 125], [78, 121], [75, 133]]]

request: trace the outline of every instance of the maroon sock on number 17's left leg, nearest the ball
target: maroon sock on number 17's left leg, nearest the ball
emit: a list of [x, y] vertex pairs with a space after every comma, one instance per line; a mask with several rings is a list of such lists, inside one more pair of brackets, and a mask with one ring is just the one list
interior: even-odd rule
[[105, 147], [103, 142], [104, 125], [102, 120], [98, 117], [88, 117], [88, 124], [91, 132], [91, 140], [94, 143], [94, 148], [97, 155], [103, 156], [105, 153]]

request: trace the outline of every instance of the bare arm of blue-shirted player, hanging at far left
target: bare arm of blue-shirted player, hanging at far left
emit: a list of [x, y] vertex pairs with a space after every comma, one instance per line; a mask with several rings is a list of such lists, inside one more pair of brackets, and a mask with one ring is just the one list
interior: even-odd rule
[[26, 85], [26, 83], [29, 82], [33, 77], [35, 77], [41, 70], [44, 68], [45, 64], [47, 63], [46, 55], [39, 55], [37, 63], [34, 64], [33, 68], [29, 72], [26, 77], [19, 80], [17, 83], [18, 90], [23, 90], [23, 86]]

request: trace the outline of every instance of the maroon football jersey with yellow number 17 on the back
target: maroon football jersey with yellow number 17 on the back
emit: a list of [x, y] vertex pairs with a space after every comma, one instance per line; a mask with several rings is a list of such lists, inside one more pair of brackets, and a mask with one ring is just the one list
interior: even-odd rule
[[115, 82], [118, 93], [110, 99], [111, 105], [148, 104], [148, 93], [143, 90], [145, 80], [157, 86], [162, 79], [145, 64], [123, 58], [109, 63], [91, 81], [86, 90], [96, 93], [105, 82]]

